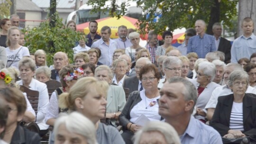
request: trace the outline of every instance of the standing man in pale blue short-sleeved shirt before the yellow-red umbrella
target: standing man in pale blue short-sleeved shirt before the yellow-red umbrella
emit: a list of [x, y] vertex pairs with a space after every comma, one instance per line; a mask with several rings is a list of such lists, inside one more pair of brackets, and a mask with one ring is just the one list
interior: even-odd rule
[[98, 47], [101, 50], [99, 62], [110, 66], [113, 63], [114, 51], [118, 48], [117, 42], [110, 39], [111, 28], [104, 26], [101, 28], [101, 39], [91, 45], [91, 48]]

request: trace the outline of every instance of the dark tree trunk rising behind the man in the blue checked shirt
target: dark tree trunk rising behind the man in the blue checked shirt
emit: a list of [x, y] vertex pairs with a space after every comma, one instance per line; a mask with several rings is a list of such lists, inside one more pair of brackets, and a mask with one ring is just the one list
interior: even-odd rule
[[212, 32], [212, 26], [214, 23], [219, 22], [219, 17], [220, 17], [220, 0], [214, 0], [214, 5], [211, 7], [210, 10], [210, 20], [207, 26], [206, 33], [209, 35], [213, 35]]

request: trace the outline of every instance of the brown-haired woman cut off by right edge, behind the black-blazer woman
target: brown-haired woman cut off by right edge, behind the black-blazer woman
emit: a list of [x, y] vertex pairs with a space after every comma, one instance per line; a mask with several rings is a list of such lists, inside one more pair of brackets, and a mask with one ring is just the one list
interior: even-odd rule
[[244, 71], [249, 75], [249, 85], [253, 88], [256, 88], [256, 64], [247, 63], [244, 66]]

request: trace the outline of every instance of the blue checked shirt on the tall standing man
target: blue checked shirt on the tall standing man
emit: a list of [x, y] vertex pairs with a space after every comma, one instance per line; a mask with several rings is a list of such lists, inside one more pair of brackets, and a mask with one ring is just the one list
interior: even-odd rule
[[215, 38], [213, 36], [204, 34], [201, 38], [199, 35], [192, 36], [189, 39], [187, 46], [187, 53], [196, 53], [198, 58], [205, 58], [209, 52], [216, 51]]

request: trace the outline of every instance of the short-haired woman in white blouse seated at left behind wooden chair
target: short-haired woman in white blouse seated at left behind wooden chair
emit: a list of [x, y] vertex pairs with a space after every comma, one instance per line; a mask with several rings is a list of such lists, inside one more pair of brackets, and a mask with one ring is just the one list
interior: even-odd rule
[[44, 135], [49, 127], [45, 122], [46, 107], [49, 103], [49, 95], [46, 84], [34, 79], [36, 63], [31, 58], [24, 57], [21, 59], [18, 63], [18, 70], [21, 80], [17, 81], [16, 83], [18, 85], [26, 86], [30, 90], [37, 90], [39, 92], [36, 123], [40, 128], [40, 135]]

